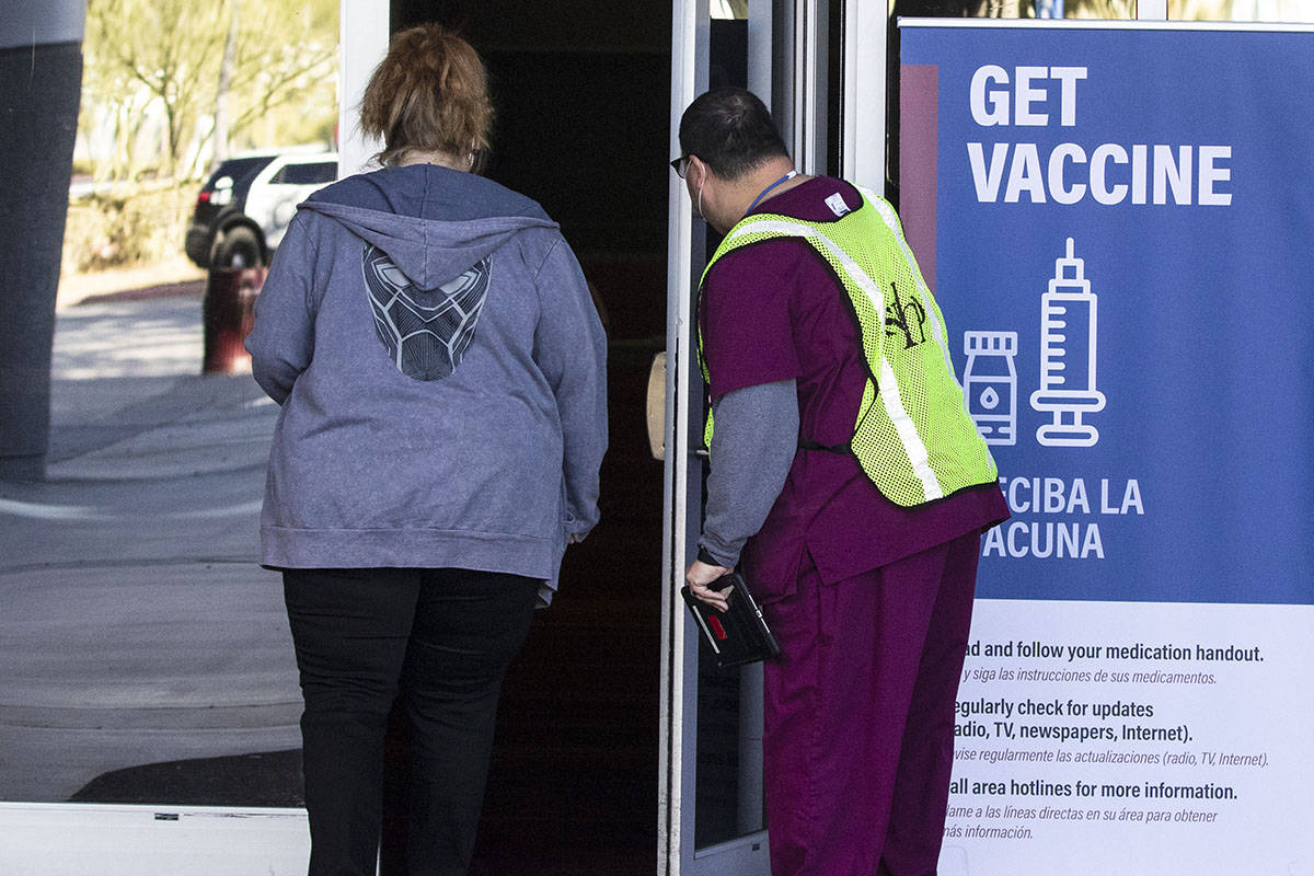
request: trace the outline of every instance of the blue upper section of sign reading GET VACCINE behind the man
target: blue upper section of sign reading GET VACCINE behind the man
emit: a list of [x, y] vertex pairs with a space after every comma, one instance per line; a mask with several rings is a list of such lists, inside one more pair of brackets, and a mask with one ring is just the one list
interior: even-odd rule
[[900, 89], [978, 595], [1314, 604], [1314, 33], [917, 21]]

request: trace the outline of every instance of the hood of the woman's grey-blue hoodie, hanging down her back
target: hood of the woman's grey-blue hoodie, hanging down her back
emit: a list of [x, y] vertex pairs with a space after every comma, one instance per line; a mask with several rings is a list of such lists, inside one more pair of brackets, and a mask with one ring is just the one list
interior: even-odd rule
[[455, 280], [524, 229], [557, 227], [522, 194], [430, 164], [343, 180], [298, 209], [328, 217], [374, 244], [420, 289]]

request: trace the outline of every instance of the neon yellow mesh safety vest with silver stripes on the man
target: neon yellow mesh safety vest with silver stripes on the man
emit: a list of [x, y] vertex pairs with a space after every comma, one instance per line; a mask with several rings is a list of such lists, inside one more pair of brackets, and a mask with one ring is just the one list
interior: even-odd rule
[[[849, 449], [867, 477], [901, 506], [924, 504], [966, 487], [992, 483], [999, 471], [963, 408], [940, 307], [917, 269], [894, 209], [867, 190], [862, 194], [863, 205], [836, 222], [815, 223], [773, 214], [746, 217], [721, 242], [703, 280], [717, 259], [738, 247], [784, 236], [804, 240], [834, 271], [857, 322], [871, 378]], [[888, 285], [890, 294], [883, 285]], [[908, 294], [907, 303], [900, 294]], [[911, 315], [917, 317], [916, 332], [909, 326]], [[891, 318], [894, 327], [887, 323]], [[887, 335], [888, 331], [894, 335]], [[887, 338], [895, 338], [896, 343], [887, 343]], [[899, 349], [897, 340], [905, 340], [907, 347]], [[702, 338], [699, 359], [703, 360]], [[711, 382], [706, 360], [703, 376]], [[880, 405], [872, 407], [876, 401]], [[708, 447], [712, 431], [708, 410], [704, 429]]]

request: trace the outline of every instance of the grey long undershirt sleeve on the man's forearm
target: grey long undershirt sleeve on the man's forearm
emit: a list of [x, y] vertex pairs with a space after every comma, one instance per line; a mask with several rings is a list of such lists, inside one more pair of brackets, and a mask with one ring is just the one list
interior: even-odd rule
[[799, 447], [792, 380], [737, 389], [712, 402], [711, 473], [699, 546], [728, 569], [766, 520]]

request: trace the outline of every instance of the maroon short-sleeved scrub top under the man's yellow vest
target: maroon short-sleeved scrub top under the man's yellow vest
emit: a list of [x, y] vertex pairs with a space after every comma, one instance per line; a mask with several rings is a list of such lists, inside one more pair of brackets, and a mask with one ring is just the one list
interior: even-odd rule
[[[815, 177], [766, 198], [753, 213], [833, 222], [838, 217], [827, 198], [833, 202], [837, 193], [849, 210], [862, 205], [849, 183]], [[698, 313], [712, 398], [794, 380], [800, 443], [846, 443], [867, 381], [849, 309], [830, 267], [798, 238], [723, 256], [707, 276]], [[794, 592], [804, 553], [823, 582], [834, 583], [1007, 517], [993, 483], [904, 508], [880, 494], [851, 454], [799, 450], [766, 523], [744, 546], [742, 562], [759, 598], [774, 602]]]

